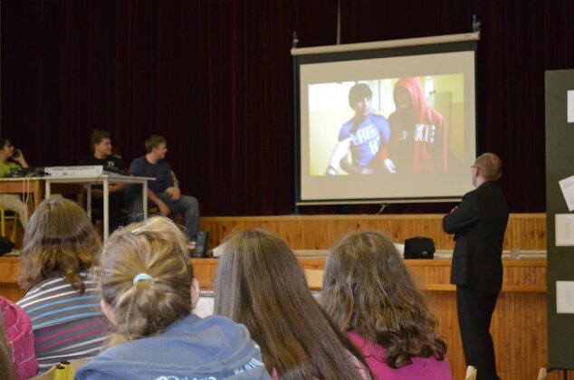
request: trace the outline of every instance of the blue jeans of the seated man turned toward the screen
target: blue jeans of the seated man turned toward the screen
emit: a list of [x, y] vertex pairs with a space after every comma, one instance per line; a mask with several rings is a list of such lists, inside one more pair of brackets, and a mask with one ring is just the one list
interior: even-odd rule
[[[169, 211], [184, 215], [187, 240], [195, 241], [197, 232], [199, 231], [199, 203], [197, 199], [193, 196], [181, 195], [177, 201], [172, 201], [167, 193], [159, 193], [156, 195], [167, 205]], [[149, 204], [148, 202], [148, 205]], [[132, 194], [129, 198], [126, 197], [126, 205], [129, 210], [129, 223], [139, 222], [143, 219], [141, 193]]]

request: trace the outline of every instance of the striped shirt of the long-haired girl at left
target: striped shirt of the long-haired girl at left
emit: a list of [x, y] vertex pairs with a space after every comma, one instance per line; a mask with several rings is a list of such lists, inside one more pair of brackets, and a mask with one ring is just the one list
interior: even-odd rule
[[32, 319], [36, 359], [43, 372], [62, 360], [92, 358], [100, 353], [108, 321], [100, 309], [95, 281], [81, 278], [86, 291], [63, 278], [44, 280], [17, 302]]

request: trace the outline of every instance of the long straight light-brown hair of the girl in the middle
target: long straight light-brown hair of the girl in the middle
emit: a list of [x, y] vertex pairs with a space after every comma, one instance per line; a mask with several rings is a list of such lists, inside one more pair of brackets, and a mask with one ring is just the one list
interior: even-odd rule
[[273, 378], [370, 378], [357, 348], [313, 298], [291, 249], [273, 233], [234, 233], [222, 245], [215, 314], [249, 329]]

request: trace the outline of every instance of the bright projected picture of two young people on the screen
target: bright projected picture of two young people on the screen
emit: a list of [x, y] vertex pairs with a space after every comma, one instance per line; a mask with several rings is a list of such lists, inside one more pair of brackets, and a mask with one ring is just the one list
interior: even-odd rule
[[464, 75], [310, 84], [311, 176], [446, 173], [464, 160]]

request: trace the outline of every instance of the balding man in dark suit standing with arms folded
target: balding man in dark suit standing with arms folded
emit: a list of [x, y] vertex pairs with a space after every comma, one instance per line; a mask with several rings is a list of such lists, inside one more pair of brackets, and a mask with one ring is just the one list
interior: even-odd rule
[[466, 364], [478, 369], [477, 379], [498, 379], [491, 319], [502, 288], [502, 242], [508, 223], [508, 204], [496, 181], [502, 161], [493, 153], [476, 158], [475, 189], [443, 219], [454, 233], [451, 283], [456, 285], [458, 325]]

